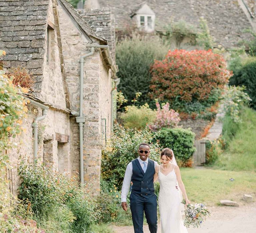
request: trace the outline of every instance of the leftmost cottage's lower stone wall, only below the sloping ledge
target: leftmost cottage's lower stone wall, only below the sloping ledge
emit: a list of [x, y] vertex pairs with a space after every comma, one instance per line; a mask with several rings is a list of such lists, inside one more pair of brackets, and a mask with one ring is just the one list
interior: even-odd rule
[[[20, 184], [18, 166], [21, 160], [33, 162], [33, 127], [37, 116], [42, 115], [42, 109], [28, 104], [28, 114], [22, 127], [24, 131], [13, 138], [17, 147], [8, 151], [12, 169], [13, 190]], [[38, 124], [38, 162], [46, 163], [53, 170], [70, 173], [70, 125], [69, 114], [49, 108], [46, 118]], [[50, 145], [50, 146], [49, 146]], [[65, 169], [65, 171], [64, 171]]]

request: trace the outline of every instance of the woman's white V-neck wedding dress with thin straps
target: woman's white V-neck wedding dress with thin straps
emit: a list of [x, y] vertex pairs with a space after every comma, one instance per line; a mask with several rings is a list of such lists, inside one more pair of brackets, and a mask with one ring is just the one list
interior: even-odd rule
[[187, 228], [183, 225], [181, 214], [182, 195], [175, 187], [177, 177], [174, 168], [167, 175], [162, 172], [163, 168], [159, 166], [160, 191], [158, 203], [162, 233], [188, 233]]

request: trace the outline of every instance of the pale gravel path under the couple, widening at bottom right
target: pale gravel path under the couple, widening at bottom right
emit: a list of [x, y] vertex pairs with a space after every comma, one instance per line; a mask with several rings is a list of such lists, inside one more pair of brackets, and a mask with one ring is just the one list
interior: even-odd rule
[[[216, 206], [209, 207], [211, 217], [201, 228], [189, 228], [188, 233], [256, 233], [256, 203], [240, 204], [239, 207]], [[113, 227], [115, 233], [133, 233], [132, 226]], [[147, 225], [144, 233], [150, 233]], [[161, 233], [160, 225], [157, 233]]]

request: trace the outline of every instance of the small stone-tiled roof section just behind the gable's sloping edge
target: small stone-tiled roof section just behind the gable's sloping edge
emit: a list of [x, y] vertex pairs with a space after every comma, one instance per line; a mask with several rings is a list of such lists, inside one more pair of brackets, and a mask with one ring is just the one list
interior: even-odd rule
[[115, 17], [109, 8], [78, 10], [88, 25], [108, 42], [115, 60]]

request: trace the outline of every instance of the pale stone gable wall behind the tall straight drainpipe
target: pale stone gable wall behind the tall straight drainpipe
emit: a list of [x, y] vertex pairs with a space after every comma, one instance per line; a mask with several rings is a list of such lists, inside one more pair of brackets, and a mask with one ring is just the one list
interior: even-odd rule
[[[71, 20], [67, 11], [61, 5], [58, 6], [60, 16], [60, 34], [62, 38], [63, 57], [65, 61], [65, 70], [67, 76], [67, 85], [70, 93], [70, 108], [71, 111], [79, 112], [79, 79], [80, 79], [80, 64], [79, 58], [81, 55], [89, 53], [89, 49], [85, 47], [88, 44], [88, 37], [84, 32], [77, 27], [74, 21]], [[97, 40], [94, 43], [99, 43]], [[100, 182], [100, 158], [102, 140], [100, 133], [101, 116], [110, 116], [111, 108], [105, 113], [101, 108], [106, 108], [104, 104], [106, 100], [111, 100], [110, 92], [104, 91], [105, 88], [111, 86], [111, 79], [108, 77], [108, 69], [103, 65], [100, 49], [96, 49], [95, 53], [84, 59], [84, 95], [83, 95], [83, 114], [86, 116], [84, 123], [83, 135], [83, 152], [84, 152], [84, 180], [89, 181], [94, 179], [93, 192], [98, 192]], [[102, 83], [103, 82], [103, 83]], [[108, 85], [109, 83], [109, 85]], [[102, 90], [101, 85], [104, 85]], [[105, 97], [99, 94], [104, 92]], [[102, 102], [102, 103], [101, 103]], [[71, 118], [71, 166], [72, 172], [80, 170], [79, 157], [79, 131], [75, 117]]]

